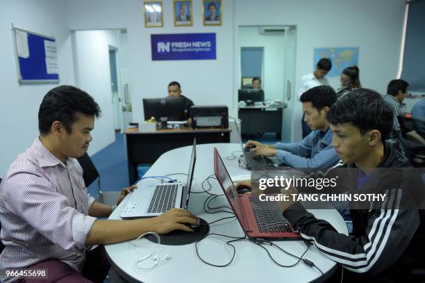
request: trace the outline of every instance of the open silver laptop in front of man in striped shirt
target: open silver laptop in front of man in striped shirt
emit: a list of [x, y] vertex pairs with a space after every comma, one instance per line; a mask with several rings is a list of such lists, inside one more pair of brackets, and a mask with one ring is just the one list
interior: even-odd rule
[[186, 184], [141, 184], [131, 193], [130, 200], [119, 216], [123, 219], [146, 218], [158, 216], [174, 207], [187, 209], [196, 159], [197, 141], [194, 138]]

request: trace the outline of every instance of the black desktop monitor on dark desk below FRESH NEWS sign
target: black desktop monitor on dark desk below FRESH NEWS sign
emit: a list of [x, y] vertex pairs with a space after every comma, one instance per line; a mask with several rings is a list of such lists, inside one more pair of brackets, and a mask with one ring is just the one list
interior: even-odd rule
[[157, 121], [166, 117], [168, 121], [185, 120], [184, 97], [144, 98], [144, 120], [154, 117]]

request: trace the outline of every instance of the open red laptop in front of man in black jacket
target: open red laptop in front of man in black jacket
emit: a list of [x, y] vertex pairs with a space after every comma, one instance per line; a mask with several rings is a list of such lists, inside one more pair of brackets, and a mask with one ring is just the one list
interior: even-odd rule
[[258, 195], [238, 194], [217, 148], [214, 149], [214, 174], [247, 236], [286, 240], [301, 239], [301, 235], [294, 232], [292, 225], [283, 217], [276, 202], [260, 201]]

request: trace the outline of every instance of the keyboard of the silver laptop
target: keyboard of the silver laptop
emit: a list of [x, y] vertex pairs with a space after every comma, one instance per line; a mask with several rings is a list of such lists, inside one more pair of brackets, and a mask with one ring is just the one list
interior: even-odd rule
[[162, 213], [174, 207], [178, 184], [160, 184], [156, 186], [147, 213]]

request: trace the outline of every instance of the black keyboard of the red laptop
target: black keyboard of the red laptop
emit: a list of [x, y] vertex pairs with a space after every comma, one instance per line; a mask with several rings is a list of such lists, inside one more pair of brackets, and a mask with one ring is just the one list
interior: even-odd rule
[[249, 202], [260, 233], [293, 232], [288, 221], [279, 216], [281, 209], [276, 202], [262, 202], [256, 195], [250, 195]]

